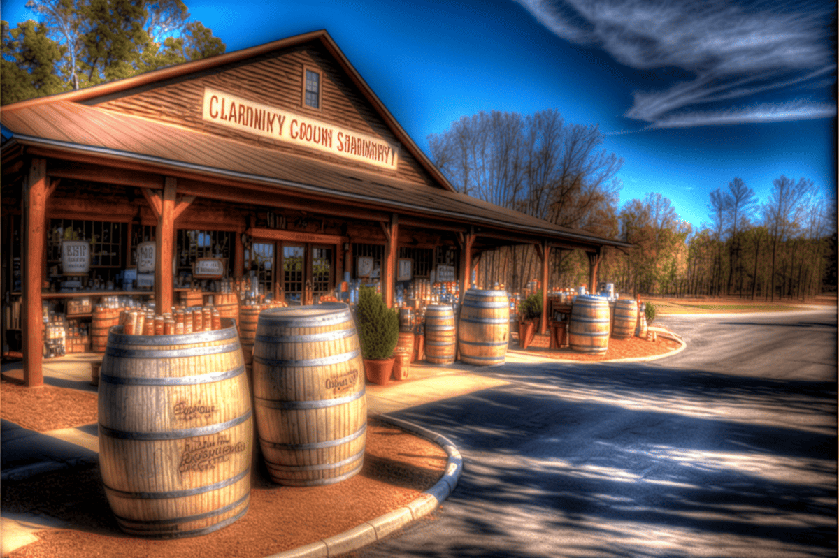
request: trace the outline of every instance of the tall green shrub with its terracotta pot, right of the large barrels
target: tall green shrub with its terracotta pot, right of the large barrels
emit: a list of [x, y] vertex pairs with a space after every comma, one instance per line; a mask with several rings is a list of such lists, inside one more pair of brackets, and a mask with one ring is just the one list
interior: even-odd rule
[[385, 306], [372, 287], [361, 287], [357, 306], [358, 341], [367, 380], [385, 385], [393, 373], [393, 349], [399, 342], [399, 313]]

